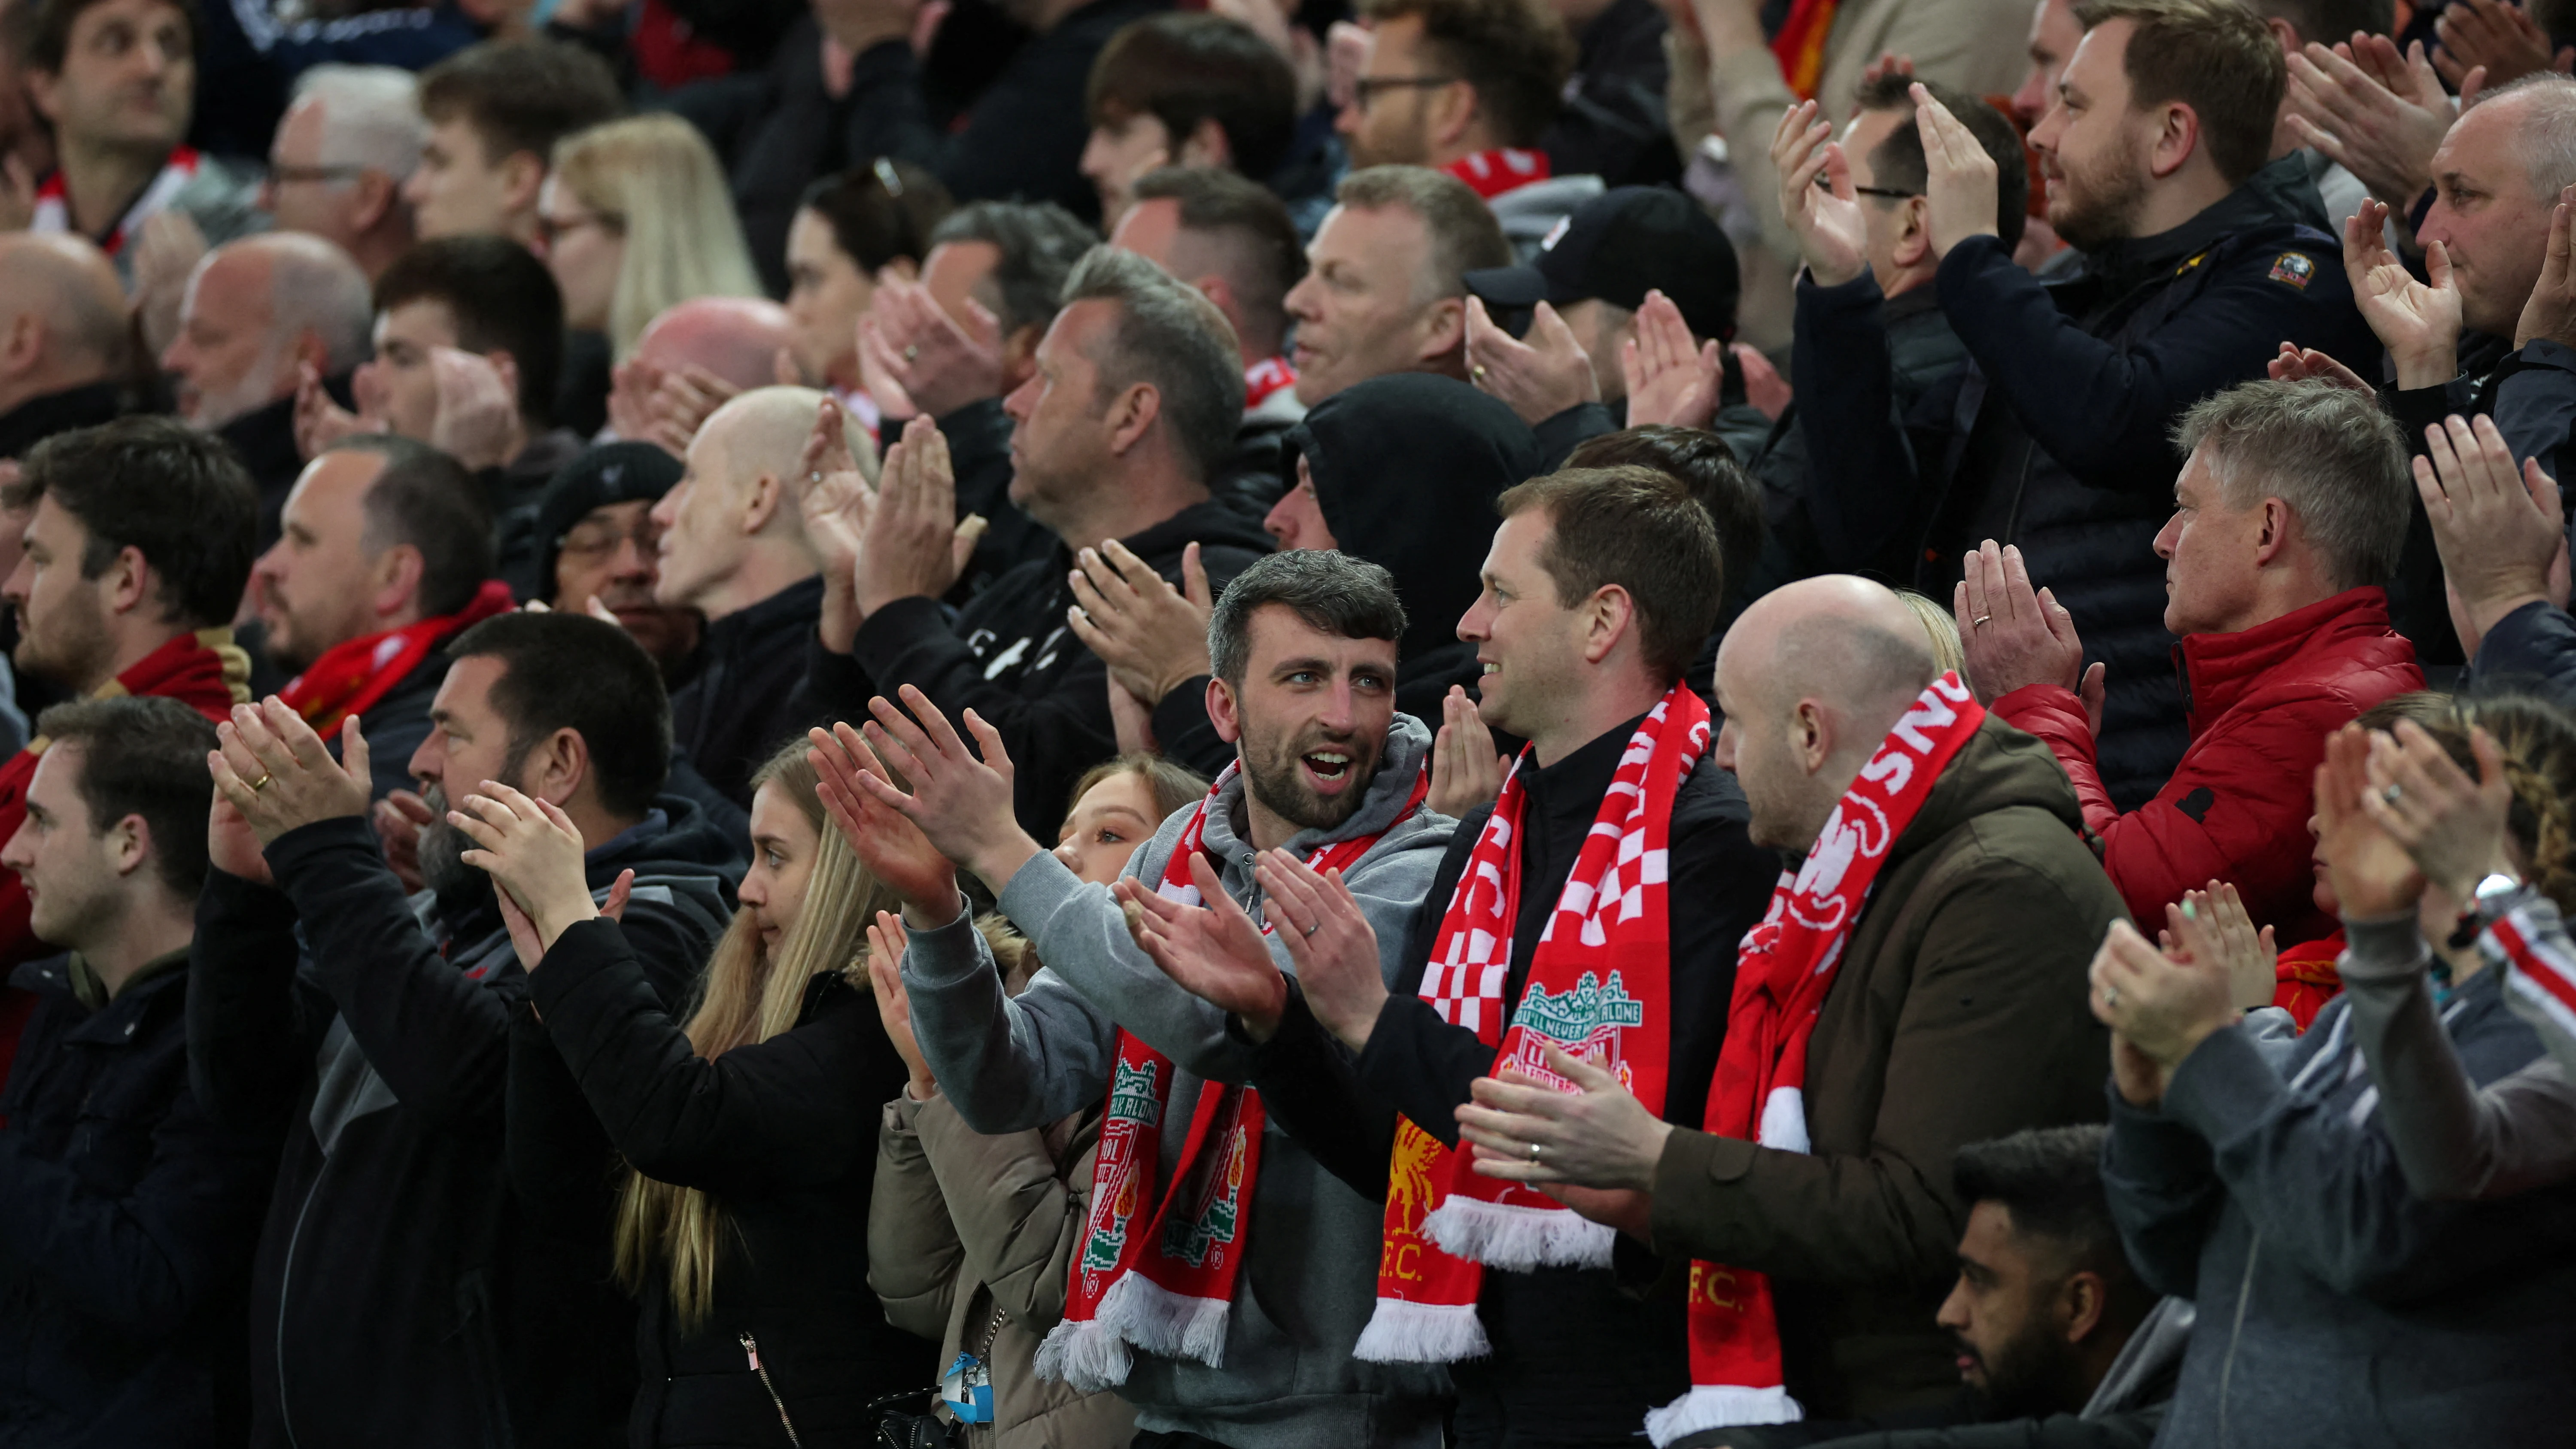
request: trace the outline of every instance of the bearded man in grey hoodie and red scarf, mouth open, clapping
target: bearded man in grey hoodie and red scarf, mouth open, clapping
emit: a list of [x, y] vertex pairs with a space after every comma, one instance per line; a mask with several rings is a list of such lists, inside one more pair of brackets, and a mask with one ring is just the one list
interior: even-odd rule
[[[1216, 928], [1275, 982], [1273, 959], [1314, 951], [1280, 915], [1278, 871], [1316, 861], [1378, 938], [1401, 938], [1450, 838], [1450, 820], [1422, 810], [1430, 732], [1394, 706], [1401, 634], [1404, 606], [1376, 565], [1296, 552], [1247, 567], [1216, 603], [1218, 678], [1208, 683], [1239, 763], [1200, 807], [1162, 822], [1115, 892], [1077, 882], [1015, 825], [1007, 750], [976, 717], [966, 724], [981, 761], [920, 691], [902, 696], [920, 727], [871, 701], [868, 740], [912, 784], [909, 797], [819, 750], [853, 822], [871, 825], [853, 833], [860, 859], [902, 882], [914, 1031], [966, 1122], [1038, 1127], [1110, 1096], [1087, 1245], [1041, 1372], [1115, 1387], [1144, 1434], [1175, 1444], [1440, 1441], [1437, 1374], [1352, 1361], [1370, 1312], [1376, 1204], [1332, 1181], [1309, 1142], [1275, 1119], [1265, 1127], [1265, 1093], [1231, 1085], [1244, 1080], [1247, 1042], [1229, 1034], [1224, 1011], [1172, 985], [1123, 918], [1136, 910], [1157, 923], [1146, 941]], [[873, 828], [896, 810], [920, 835], [902, 820]], [[1046, 959], [1018, 998], [999, 990], [948, 861], [999, 892]], [[1255, 926], [1236, 902], [1265, 895], [1267, 923]], [[1221, 923], [1172, 905], [1195, 900], [1221, 902]], [[1342, 946], [1370, 957], [1370, 980], [1399, 967], [1394, 949]], [[1195, 1116], [1216, 1132], [1185, 1155]], [[1190, 1191], [1211, 1168], [1229, 1183], [1213, 1212]], [[1172, 1214], [1195, 1222], [1167, 1235], [1167, 1220], [1182, 1222]], [[1198, 1266], [1157, 1248], [1170, 1238], [1198, 1238]], [[1172, 1299], [1198, 1320], [1188, 1341], [1157, 1330], [1151, 1307]]]

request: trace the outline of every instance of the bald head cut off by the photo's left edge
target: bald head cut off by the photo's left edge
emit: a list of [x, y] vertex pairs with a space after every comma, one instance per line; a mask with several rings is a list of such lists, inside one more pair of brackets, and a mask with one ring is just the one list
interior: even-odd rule
[[0, 235], [0, 459], [124, 413], [126, 291], [82, 237]]

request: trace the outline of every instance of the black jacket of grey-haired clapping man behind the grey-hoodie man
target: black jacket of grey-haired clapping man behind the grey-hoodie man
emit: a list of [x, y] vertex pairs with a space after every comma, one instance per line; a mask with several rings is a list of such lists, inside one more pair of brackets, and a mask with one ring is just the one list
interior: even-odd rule
[[[1213, 500], [1121, 539], [1170, 583], [1180, 583], [1180, 549], [1193, 541], [1208, 588], [1218, 590], [1270, 552], [1267, 534]], [[891, 699], [907, 683], [961, 730], [961, 712], [974, 709], [1002, 732], [1018, 766], [1020, 828], [1054, 841], [1074, 781], [1118, 753], [1108, 665], [1064, 624], [1074, 603], [1064, 583], [1072, 570], [1074, 554], [1059, 541], [1046, 559], [997, 578], [953, 619], [938, 598], [896, 598], [858, 627], [848, 655], [817, 639], [806, 650], [804, 712], [866, 719], [868, 696]]]

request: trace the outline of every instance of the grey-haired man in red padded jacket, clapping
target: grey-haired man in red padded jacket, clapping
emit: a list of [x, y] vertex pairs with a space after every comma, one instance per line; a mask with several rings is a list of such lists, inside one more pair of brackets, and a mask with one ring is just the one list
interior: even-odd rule
[[2280, 846], [2306, 833], [2326, 735], [2424, 688], [2380, 588], [2406, 541], [2406, 443], [2367, 392], [2246, 382], [2184, 413], [2174, 449], [2184, 464], [2156, 554], [2192, 745], [2164, 789], [2112, 807], [2094, 768], [2102, 665], [2084, 668], [2074, 619], [1991, 539], [1958, 585], [1968, 683], [2056, 750], [2141, 926], [2228, 882], [2280, 946], [2316, 941], [2336, 931], [2334, 908], [2313, 900], [2308, 859]]

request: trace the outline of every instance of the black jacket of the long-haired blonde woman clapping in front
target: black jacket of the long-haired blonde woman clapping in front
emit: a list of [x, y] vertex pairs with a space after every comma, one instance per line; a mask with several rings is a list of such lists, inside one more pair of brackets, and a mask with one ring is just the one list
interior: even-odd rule
[[556, 938], [528, 1006], [510, 1029], [518, 1191], [608, 1222], [613, 1150], [724, 1212], [706, 1323], [677, 1320], [665, 1266], [647, 1274], [629, 1444], [786, 1444], [744, 1336], [804, 1444], [866, 1444], [868, 1400], [925, 1387], [940, 1366], [935, 1343], [886, 1323], [868, 1292], [868, 1238], [853, 1232], [876, 1183], [876, 1119], [850, 1104], [904, 1085], [876, 1000], [819, 975], [793, 1031], [708, 1062], [623, 931], [600, 920]]

